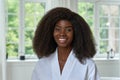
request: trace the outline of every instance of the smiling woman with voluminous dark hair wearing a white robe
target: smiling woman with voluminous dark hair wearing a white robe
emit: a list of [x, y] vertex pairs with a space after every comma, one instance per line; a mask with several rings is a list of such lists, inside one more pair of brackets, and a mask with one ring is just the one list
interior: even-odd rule
[[100, 80], [92, 57], [96, 53], [92, 32], [75, 12], [57, 7], [39, 22], [33, 49], [40, 60], [32, 80]]

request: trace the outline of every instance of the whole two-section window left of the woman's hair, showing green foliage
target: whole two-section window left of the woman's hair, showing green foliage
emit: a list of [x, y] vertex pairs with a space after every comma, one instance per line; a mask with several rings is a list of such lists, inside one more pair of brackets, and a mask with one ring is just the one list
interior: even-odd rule
[[32, 38], [38, 21], [45, 13], [46, 2], [39, 0], [6, 0], [7, 57], [33, 57]]

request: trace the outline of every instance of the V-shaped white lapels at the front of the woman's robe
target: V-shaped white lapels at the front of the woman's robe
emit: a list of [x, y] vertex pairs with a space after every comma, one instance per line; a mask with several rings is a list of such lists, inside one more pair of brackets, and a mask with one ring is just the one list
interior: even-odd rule
[[55, 53], [52, 55], [52, 60], [51, 60], [52, 80], [69, 80], [68, 78], [71, 74], [71, 71], [74, 68], [75, 62], [76, 62], [76, 58], [72, 50], [70, 52], [70, 55], [68, 56], [68, 59], [64, 65], [64, 68], [61, 74], [59, 62], [58, 62], [58, 53], [56, 49]]

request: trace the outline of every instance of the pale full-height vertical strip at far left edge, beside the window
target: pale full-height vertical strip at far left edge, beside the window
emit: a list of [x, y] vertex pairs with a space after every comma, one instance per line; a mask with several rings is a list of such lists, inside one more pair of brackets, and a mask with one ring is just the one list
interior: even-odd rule
[[4, 1], [5, 0], [0, 0], [0, 80], [6, 80]]

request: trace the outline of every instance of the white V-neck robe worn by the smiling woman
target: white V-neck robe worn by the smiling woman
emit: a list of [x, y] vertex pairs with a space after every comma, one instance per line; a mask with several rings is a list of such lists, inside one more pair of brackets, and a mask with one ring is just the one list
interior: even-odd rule
[[73, 51], [70, 52], [61, 74], [56, 50], [54, 54], [37, 62], [32, 80], [100, 80], [100, 78], [94, 61], [86, 59], [86, 63], [82, 64]]

